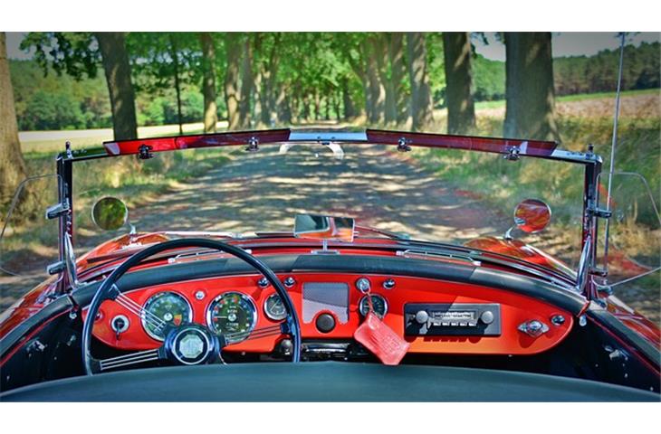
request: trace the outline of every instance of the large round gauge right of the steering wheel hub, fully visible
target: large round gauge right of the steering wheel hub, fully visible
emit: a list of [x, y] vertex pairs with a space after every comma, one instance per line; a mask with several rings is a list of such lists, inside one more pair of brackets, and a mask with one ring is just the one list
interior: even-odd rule
[[257, 324], [253, 300], [238, 292], [225, 292], [206, 309], [206, 325], [228, 343], [243, 341]]

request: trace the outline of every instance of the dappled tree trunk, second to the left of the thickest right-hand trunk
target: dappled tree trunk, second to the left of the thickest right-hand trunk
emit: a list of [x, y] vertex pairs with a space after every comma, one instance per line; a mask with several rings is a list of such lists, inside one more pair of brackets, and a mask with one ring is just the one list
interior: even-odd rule
[[411, 82], [412, 129], [420, 131], [434, 120], [426, 65], [425, 33], [407, 33], [408, 78]]

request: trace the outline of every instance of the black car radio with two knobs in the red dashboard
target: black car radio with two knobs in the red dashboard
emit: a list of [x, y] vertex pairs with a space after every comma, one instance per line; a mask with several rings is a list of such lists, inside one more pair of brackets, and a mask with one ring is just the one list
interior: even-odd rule
[[407, 304], [404, 327], [409, 336], [498, 336], [501, 335], [501, 307], [467, 303]]

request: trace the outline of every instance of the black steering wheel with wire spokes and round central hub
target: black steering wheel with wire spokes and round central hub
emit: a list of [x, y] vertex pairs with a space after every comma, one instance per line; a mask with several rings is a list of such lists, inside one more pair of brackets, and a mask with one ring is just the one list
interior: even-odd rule
[[[256, 259], [247, 251], [226, 244], [221, 241], [206, 240], [201, 238], [181, 239], [161, 242], [155, 246], [148, 247], [126, 259], [120, 267], [112, 271], [110, 276], [101, 284], [96, 294], [91, 300], [90, 309], [82, 326], [82, 363], [85, 366], [85, 372], [88, 375], [101, 373], [102, 371], [116, 369], [136, 363], [145, 363], [156, 360], [169, 360], [179, 364], [203, 364], [215, 363], [220, 360], [220, 351], [225, 346], [225, 336], [216, 335], [208, 327], [198, 324], [185, 323], [181, 325], [169, 325], [163, 319], [154, 316], [144, 310], [138, 303], [126, 297], [122, 289], [117, 285], [117, 281], [132, 267], [138, 265], [142, 260], [164, 250], [180, 249], [187, 247], [201, 247], [206, 249], [220, 250], [229, 253], [238, 259], [244, 260], [247, 264], [262, 273], [280, 298], [283, 300], [284, 308], [287, 311], [286, 320], [281, 325], [266, 327], [268, 330], [254, 330], [251, 333], [257, 333], [260, 337], [265, 334], [280, 335], [281, 333], [292, 336], [292, 362], [298, 363], [301, 360], [301, 324], [299, 323], [296, 309], [293, 307], [292, 298], [289, 297], [286, 289], [283, 287], [280, 279], [275, 276], [273, 270]], [[108, 359], [95, 359], [91, 355], [91, 330], [94, 326], [94, 320], [99, 313], [99, 307], [105, 300], [115, 300], [122, 307], [127, 308], [131, 313], [150, 322], [161, 330], [165, 339], [163, 345], [154, 350], [139, 351], [131, 354], [124, 354]]]

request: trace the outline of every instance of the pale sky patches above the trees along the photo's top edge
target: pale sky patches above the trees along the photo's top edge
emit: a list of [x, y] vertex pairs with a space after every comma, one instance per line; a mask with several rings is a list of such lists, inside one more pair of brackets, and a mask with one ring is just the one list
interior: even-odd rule
[[[25, 33], [7, 33], [7, 55], [10, 59], [31, 59], [32, 53], [25, 53], [18, 48]], [[487, 59], [505, 60], [505, 46], [495, 37], [495, 33], [485, 33], [487, 42], [473, 38], [475, 51]], [[640, 45], [640, 42], [659, 42], [661, 33], [631, 33], [627, 35], [627, 44]], [[619, 46], [618, 33], [552, 33], [551, 47], [553, 57], [591, 56], [601, 50], [612, 50]]]

